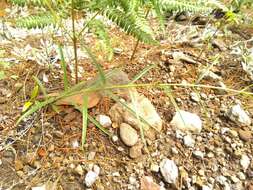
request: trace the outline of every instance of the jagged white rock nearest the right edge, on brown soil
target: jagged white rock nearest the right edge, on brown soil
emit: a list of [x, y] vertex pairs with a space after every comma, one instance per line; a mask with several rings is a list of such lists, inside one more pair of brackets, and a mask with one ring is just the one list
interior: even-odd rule
[[239, 104], [234, 105], [227, 113], [229, 119], [237, 124], [243, 126], [249, 126], [251, 124], [251, 119], [247, 113], [241, 108]]

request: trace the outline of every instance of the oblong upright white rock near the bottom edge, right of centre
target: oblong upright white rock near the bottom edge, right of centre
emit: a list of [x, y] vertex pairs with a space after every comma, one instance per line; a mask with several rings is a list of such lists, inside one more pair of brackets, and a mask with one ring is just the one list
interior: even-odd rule
[[163, 159], [160, 163], [160, 171], [167, 183], [176, 183], [178, 167], [173, 160]]

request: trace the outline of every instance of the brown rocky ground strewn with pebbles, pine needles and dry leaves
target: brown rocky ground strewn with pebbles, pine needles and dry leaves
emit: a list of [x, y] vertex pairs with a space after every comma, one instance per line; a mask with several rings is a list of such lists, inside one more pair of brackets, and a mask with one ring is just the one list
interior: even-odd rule
[[[130, 61], [135, 40], [112, 27], [114, 59], [96, 55], [105, 69], [120, 68], [113, 84], [157, 66], [137, 81], [153, 85], [119, 90], [150, 125], [103, 94], [89, 113], [112, 135], [89, 123], [81, 150], [82, 115], [71, 106], [59, 113], [48, 106], [15, 125], [34, 88], [32, 76], [56, 92], [63, 89], [62, 73], [49, 34], [1, 27], [1, 59], [10, 66], [0, 81], [0, 189], [253, 190], [250, 30], [241, 28], [241, 36], [204, 21], [171, 19], [159, 35], [161, 45], [140, 44]], [[95, 43], [90, 34], [85, 40]], [[69, 47], [64, 51], [71, 63]], [[87, 55], [79, 58], [80, 78], [92, 80]], [[166, 83], [177, 85], [157, 85]]]

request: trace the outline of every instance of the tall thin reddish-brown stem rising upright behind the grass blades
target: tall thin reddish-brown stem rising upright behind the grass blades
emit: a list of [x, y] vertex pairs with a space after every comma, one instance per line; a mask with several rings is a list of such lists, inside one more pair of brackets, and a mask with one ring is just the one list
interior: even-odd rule
[[78, 83], [78, 60], [77, 60], [77, 39], [76, 39], [76, 29], [75, 29], [75, 9], [74, 0], [71, 0], [71, 18], [72, 18], [72, 32], [73, 32], [73, 46], [74, 46], [74, 56], [75, 56], [75, 82]]

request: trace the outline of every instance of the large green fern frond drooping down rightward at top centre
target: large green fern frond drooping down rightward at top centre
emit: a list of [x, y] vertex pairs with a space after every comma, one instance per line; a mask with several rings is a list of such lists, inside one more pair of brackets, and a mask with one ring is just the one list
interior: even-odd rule
[[136, 37], [138, 40], [148, 44], [157, 43], [144, 17], [133, 14], [133, 12], [125, 13], [120, 9], [111, 8], [104, 11], [104, 15], [115, 22], [127, 34]]

